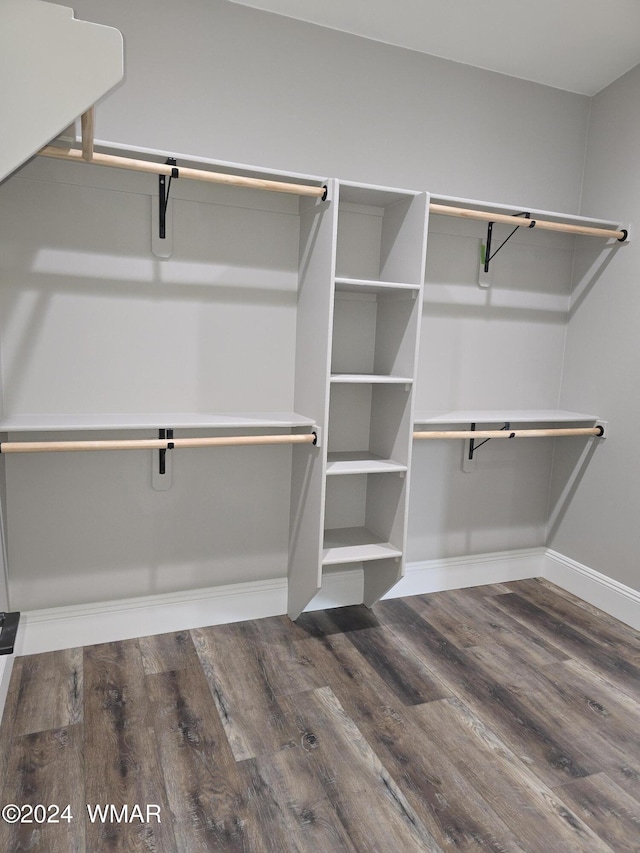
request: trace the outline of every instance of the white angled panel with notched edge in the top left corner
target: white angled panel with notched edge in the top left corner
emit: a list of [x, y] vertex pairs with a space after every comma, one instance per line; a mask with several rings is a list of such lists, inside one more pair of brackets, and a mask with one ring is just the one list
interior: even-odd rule
[[124, 73], [121, 33], [41, 0], [0, 7], [0, 180], [92, 107]]

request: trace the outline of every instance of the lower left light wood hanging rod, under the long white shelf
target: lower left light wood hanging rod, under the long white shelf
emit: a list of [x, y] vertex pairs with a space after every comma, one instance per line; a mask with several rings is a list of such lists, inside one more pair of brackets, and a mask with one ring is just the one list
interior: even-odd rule
[[206, 438], [132, 438], [105, 441], [3, 441], [0, 453], [49, 453], [70, 450], [173, 450], [176, 447], [237, 447], [249, 444], [316, 444], [317, 433], [228, 435]]

